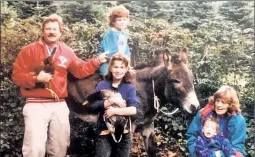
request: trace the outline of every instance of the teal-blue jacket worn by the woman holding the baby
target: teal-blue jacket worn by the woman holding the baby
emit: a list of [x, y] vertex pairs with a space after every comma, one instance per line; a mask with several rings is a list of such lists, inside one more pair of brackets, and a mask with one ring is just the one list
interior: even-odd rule
[[[208, 116], [216, 117], [216, 113], [211, 111]], [[202, 123], [203, 120], [201, 114], [198, 112], [193, 118], [186, 133], [191, 157], [198, 156], [195, 152], [195, 141], [199, 136], [199, 131], [202, 129]], [[241, 114], [226, 115], [219, 121], [219, 126], [220, 132], [223, 133], [224, 137], [227, 137], [231, 145], [245, 156], [244, 145], [246, 139], [246, 123], [244, 117]]]

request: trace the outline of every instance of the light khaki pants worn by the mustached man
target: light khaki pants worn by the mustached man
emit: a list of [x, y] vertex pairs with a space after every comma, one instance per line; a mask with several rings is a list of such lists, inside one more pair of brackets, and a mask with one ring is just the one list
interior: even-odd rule
[[66, 102], [28, 103], [23, 108], [24, 157], [66, 156], [70, 143], [69, 108]]

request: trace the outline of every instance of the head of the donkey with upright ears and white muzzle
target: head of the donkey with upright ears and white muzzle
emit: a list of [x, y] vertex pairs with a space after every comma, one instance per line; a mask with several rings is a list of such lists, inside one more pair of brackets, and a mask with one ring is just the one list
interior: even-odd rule
[[159, 81], [164, 81], [165, 99], [194, 114], [199, 108], [199, 102], [194, 90], [194, 76], [188, 65], [187, 49], [184, 48], [178, 55], [165, 53], [163, 58], [167, 70]]

